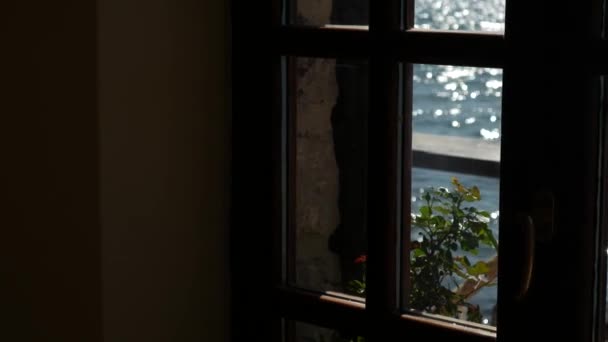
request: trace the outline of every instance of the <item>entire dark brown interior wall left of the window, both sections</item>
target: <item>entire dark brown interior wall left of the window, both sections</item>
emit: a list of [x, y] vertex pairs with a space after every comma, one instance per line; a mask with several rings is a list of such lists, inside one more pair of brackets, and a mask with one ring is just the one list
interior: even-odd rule
[[0, 6], [0, 340], [227, 339], [222, 0]]

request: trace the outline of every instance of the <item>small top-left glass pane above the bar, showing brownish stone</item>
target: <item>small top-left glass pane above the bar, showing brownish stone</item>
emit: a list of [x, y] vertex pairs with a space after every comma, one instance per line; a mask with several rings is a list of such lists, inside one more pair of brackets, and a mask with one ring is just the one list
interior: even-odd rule
[[367, 25], [369, 0], [291, 0], [289, 22], [294, 25]]

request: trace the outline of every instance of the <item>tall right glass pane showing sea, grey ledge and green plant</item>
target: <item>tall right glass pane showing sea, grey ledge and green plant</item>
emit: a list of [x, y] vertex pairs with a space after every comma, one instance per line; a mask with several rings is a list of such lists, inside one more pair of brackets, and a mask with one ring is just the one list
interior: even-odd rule
[[413, 67], [409, 309], [496, 324], [501, 89], [499, 69]]

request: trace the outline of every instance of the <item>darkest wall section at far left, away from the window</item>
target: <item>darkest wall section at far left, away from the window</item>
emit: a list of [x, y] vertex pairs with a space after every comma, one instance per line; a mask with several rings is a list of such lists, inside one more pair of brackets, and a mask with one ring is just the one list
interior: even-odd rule
[[0, 7], [0, 340], [100, 341], [96, 10]]

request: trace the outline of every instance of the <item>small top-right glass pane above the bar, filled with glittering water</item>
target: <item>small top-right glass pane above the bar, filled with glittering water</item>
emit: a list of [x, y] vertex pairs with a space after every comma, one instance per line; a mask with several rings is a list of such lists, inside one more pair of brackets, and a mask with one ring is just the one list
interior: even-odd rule
[[414, 27], [502, 33], [505, 0], [416, 0]]

